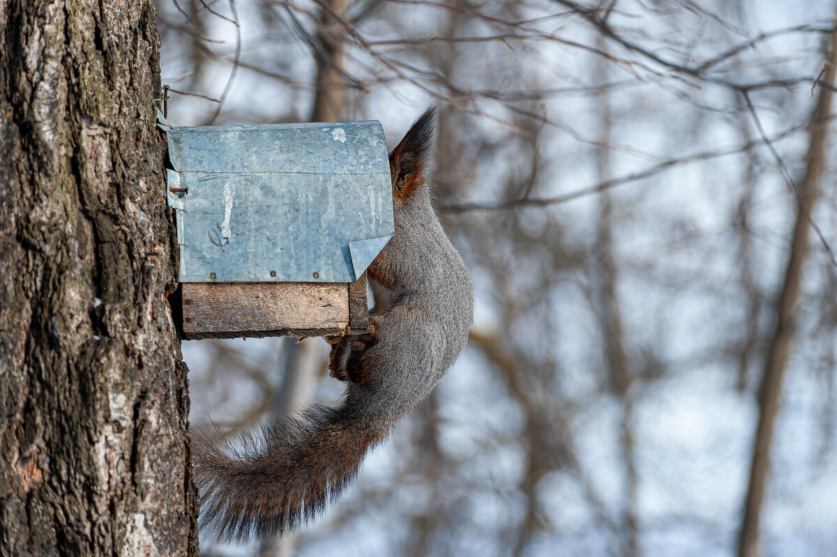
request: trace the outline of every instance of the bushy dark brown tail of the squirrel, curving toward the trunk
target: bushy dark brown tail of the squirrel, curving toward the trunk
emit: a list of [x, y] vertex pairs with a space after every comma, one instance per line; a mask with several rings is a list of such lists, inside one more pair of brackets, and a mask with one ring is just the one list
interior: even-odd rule
[[225, 541], [296, 529], [341, 493], [386, 435], [346, 404], [308, 406], [226, 447], [193, 432], [201, 529]]

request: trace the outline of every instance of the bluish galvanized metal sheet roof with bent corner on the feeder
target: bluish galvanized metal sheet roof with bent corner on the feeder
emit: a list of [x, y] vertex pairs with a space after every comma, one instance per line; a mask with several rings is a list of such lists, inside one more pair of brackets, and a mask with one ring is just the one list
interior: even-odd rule
[[392, 238], [377, 121], [176, 127], [182, 282], [353, 282]]

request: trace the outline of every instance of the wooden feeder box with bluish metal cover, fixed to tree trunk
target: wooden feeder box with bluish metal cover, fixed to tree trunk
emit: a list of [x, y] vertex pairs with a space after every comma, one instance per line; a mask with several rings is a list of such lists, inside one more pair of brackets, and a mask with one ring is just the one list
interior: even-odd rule
[[157, 118], [172, 167], [182, 337], [367, 330], [364, 272], [394, 231], [381, 124]]

